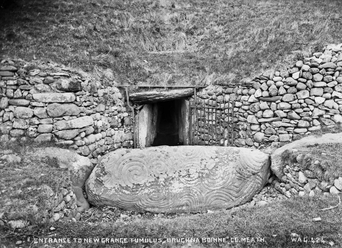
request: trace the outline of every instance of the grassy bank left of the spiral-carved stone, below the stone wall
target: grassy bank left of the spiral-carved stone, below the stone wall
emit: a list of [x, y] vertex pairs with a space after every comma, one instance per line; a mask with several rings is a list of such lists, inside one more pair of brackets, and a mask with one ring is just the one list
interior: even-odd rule
[[[0, 166], [0, 213], [4, 220], [24, 220], [40, 224], [44, 211], [51, 209], [50, 194], [70, 186], [69, 173], [58, 167], [55, 159], [38, 159], [25, 153], [39, 145], [31, 141], [7, 142], [1, 151], [11, 149], [21, 157], [20, 164], [4, 162]], [[1, 153], [1, 152], [0, 152]]]

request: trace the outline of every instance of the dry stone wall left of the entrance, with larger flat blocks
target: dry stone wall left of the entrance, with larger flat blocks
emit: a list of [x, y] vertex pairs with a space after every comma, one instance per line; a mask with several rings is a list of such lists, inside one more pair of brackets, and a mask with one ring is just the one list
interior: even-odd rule
[[89, 158], [133, 147], [132, 113], [110, 75], [94, 79], [51, 64], [28, 67], [23, 61], [0, 64], [1, 143], [28, 136]]

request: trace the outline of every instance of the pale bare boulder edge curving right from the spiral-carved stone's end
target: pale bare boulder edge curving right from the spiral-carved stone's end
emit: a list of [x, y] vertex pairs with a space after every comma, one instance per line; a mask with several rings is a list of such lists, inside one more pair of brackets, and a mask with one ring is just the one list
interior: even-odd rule
[[[281, 137], [279, 134], [279, 140]], [[278, 149], [276, 149], [272, 155], [272, 165], [271, 170], [277, 176], [277, 178], [281, 179], [284, 175], [283, 168], [287, 161], [283, 161], [282, 154], [290, 149], [300, 149], [305, 148], [307, 146], [319, 145], [319, 144], [328, 144], [328, 143], [341, 143], [342, 141], [342, 133], [326, 133], [323, 135], [309, 135], [300, 140], [293, 141], [289, 144], [286, 144]]]

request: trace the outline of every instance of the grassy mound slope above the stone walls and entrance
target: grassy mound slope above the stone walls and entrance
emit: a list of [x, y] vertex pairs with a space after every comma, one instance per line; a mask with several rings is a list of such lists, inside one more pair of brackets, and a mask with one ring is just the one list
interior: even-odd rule
[[119, 84], [237, 84], [342, 36], [338, 0], [5, 2], [1, 57], [110, 68]]

